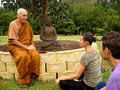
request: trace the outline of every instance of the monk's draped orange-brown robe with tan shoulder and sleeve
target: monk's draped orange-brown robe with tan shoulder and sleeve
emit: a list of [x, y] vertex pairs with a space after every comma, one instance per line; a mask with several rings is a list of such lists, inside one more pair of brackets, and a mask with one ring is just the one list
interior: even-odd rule
[[21, 84], [29, 84], [31, 77], [38, 77], [40, 72], [40, 56], [36, 50], [26, 50], [12, 44], [11, 39], [16, 39], [24, 45], [33, 45], [33, 32], [29, 23], [22, 27], [16, 26], [16, 20], [9, 25], [8, 49], [15, 58], [15, 64], [19, 72], [18, 81]]

